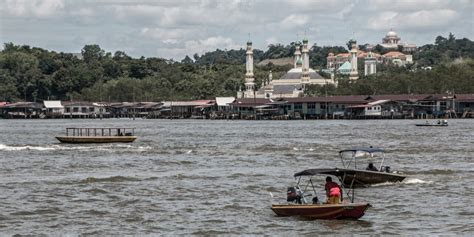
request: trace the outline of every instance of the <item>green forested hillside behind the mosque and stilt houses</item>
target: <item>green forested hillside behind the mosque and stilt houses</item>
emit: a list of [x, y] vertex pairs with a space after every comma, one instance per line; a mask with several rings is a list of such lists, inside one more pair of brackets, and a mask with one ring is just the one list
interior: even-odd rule
[[[329, 52], [346, 52], [341, 46], [310, 50], [311, 67], [326, 64]], [[290, 45], [270, 45], [254, 50], [255, 62], [292, 57]], [[92, 101], [161, 101], [210, 99], [235, 96], [243, 88], [245, 50], [216, 50], [186, 57], [181, 62], [162, 58], [132, 58], [124, 52], [104, 52], [98, 45], [86, 45], [82, 59], [27, 45], [7, 43], [0, 51], [0, 101], [46, 99]], [[361, 77], [355, 83], [340, 78], [329, 94], [474, 93], [474, 44], [469, 39], [438, 36], [435, 44], [421, 46], [410, 67], [384, 65], [376, 76]], [[432, 66], [433, 70], [420, 70]], [[273, 78], [291, 66], [268, 64], [255, 67], [257, 86], [272, 71]], [[362, 68], [363, 69], [363, 68]], [[362, 73], [362, 72], [361, 72]], [[322, 87], [308, 88], [321, 94]]]

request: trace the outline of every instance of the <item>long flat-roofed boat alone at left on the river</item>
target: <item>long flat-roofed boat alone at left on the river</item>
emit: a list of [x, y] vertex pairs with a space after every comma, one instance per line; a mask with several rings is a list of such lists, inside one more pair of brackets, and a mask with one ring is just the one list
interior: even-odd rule
[[57, 136], [62, 143], [127, 143], [137, 139], [134, 128], [66, 128], [66, 136]]

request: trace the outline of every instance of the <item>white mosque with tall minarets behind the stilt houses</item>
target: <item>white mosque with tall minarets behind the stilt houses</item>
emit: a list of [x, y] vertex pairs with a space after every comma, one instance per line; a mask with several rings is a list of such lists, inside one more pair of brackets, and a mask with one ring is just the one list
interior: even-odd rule
[[309, 67], [308, 39], [295, 45], [294, 68], [289, 70], [280, 79], [273, 80], [270, 72], [264, 80], [262, 87], [255, 90], [253, 74], [253, 49], [252, 42], [247, 42], [245, 91], [239, 90], [237, 98], [292, 98], [304, 96], [306, 85], [336, 84], [334, 79], [326, 79]]

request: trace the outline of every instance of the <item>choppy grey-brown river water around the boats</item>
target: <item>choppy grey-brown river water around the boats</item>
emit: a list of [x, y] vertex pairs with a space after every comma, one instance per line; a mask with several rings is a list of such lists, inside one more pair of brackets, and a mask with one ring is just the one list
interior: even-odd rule
[[[0, 120], [0, 233], [471, 235], [474, 120], [417, 122]], [[66, 127], [117, 126], [135, 127], [139, 138], [105, 145], [54, 138]], [[285, 202], [295, 172], [341, 167], [339, 149], [370, 145], [386, 149], [392, 169], [409, 177], [358, 189], [356, 200], [373, 205], [360, 220], [271, 211]]]

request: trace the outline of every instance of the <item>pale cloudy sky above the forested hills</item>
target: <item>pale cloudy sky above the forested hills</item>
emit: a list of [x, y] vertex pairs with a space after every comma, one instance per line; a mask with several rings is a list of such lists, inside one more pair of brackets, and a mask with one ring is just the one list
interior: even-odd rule
[[[0, 43], [78, 53], [86, 44], [179, 61], [216, 49], [474, 39], [474, 0], [0, 0]], [[2, 46], [3, 47], [3, 46]]]

